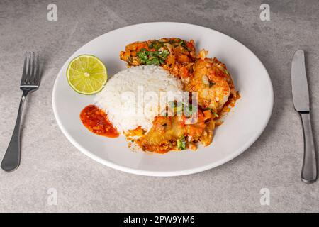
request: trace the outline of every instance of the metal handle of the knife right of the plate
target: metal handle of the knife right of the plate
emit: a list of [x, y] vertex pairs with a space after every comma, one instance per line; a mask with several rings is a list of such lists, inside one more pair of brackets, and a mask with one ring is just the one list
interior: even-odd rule
[[313, 142], [313, 131], [311, 129], [310, 113], [300, 113], [303, 122], [303, 169], [301, 180], [306, 184], [311, 184], [317, 179], [317, 161], [315, 153], [315, 143]]

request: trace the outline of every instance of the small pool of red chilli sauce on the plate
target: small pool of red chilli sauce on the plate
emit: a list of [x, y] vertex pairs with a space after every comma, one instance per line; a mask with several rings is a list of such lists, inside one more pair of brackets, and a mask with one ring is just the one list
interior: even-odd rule
[[86, 106], [80, 114], [80, 118], [84, 126], [92, 133], [103, 135], [109, 138], [118, 137], [118, 131], [108, 121], [107, 114], [94, 105]]

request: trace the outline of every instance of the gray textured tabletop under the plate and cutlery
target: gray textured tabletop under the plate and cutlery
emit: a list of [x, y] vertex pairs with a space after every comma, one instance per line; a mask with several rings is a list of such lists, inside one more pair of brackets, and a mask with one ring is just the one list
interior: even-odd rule
[[[176, 2], [176, 1], [174, 1]], [[43, 81], [26, 102], [21, 167], [0, 171], [0, 211], [319, 211], [319, 182], [300, 179], [301, 121], [291, 99], [291, 58], [306, 51], [315, 140], [319, 139], [319, 1], [0, 2], [0, 157], [16, 121], [23, 52], [45, 55]], [[183, 2], [183, 3], [182, 3]], [[271, 21], [259, 19], [270, 5]], [[262, 136], [235, 160], [184, 177], [142, 177], [86, 157], [62, 135], [52, 113], [52, 85], [72, 53], [98, 35], [133, 23], [177, 21], [226, 33], [250, 48], [274, 84], [274, 111]], [[270, 206], [259, 190], [270, 190]], [[57, 206], [47, 189], [57, 189]]]

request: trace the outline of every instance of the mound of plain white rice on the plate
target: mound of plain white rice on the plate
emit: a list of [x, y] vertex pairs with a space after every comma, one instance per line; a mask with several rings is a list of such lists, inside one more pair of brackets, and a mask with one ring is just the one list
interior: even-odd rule
[[120, 133], [138, 126], [148, 131], [163, 109], [163, 94], [180, 98], [182, 88], [181, 81], [162, 67], [130, 67], [111, 77], [94, 101]]

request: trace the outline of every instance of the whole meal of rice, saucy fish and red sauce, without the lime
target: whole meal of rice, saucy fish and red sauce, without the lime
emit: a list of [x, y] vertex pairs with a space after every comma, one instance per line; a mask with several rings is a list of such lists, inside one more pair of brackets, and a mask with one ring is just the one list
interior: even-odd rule
[[126, 45], [120, 58], [128, 69], [111, 77], [82, 111], [84, 126], [107, 137], [125, 135], [130, 147], [152, 153], [210, 145], [240, 95], [225, 64], [207, 55], [180, 38]]

